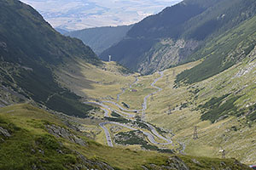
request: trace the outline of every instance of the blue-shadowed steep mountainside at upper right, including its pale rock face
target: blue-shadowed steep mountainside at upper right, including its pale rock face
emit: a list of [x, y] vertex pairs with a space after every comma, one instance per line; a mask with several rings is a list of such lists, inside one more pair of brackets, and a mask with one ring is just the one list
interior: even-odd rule
[[252, 18], [255, 8], [253, 0], [185, 0], [137, 23], [100, 57], [107, 59], [111, 54], [114, 60], [144, 74], [166, 69], [185, 62], [212, 37]]

